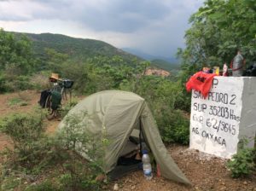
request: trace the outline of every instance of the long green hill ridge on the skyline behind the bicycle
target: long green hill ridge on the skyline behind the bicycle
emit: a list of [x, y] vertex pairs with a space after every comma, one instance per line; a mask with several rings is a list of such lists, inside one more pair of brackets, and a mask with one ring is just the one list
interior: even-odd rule
[[[14, 32], [20, 35], [20, 32]], [[133, 65], [134, 60], [143, 61], [137, 55], [131, 55], [122, 49], [117, 49], [109, 43], [99, 40], [71, 38], [61, 34], [42, 33], [33, 34], [25, 33], [32, 40], [32, 48], [38, 57], [44, 59], [46, 56], [45, 49], [55, 49], [57, 52], [69, 55], [69, 58], [76, 61], [86, 61], [98, 55], [109, 56], [119, 55], [128, 64]]]

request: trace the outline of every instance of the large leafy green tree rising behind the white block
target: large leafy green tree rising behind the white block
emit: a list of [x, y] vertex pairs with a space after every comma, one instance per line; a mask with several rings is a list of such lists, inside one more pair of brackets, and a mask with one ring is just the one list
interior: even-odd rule
[[185, 75], [205, 66], [222, 67], [241, 49], [247, 63], [256, 60], [256, 2], [207, 0], [190, 17], [186, 48], [178, 49]]

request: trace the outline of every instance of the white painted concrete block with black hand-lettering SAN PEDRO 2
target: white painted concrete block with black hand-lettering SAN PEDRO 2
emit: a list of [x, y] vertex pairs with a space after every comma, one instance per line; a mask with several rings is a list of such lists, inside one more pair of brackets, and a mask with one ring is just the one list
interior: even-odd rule
[[246, 137], [254, 146], [256, 78], [214, 77], [206, 99], [192, 91], [189, 148], [230, 159]]

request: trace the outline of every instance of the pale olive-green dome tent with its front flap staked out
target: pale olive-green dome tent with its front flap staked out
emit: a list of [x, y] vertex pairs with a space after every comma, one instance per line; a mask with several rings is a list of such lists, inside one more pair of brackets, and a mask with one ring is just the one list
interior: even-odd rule
[[[107, 138], [110, 140], [105, 149], [103, 171], [106, 173], [113, 171], [119, 156], [127, 148], [125, 146], [129, 136], [141, 129], [145, 142], [160, 166], [161, 175], [176, 182], [190, 184], [167, 152], [152, 113], [142, 97], [119, 90], [98, 92], [80, 101], [67, 113], [67, 116], [84, 111], [88, 113], [88, 116], [93, 116], [86, 127], [88, 133], [102, 141], [102, 132], [106, 130]], [[59, 124], [59, 130], [65, 125], [65, 118]], [[140, 127], [137, 124], [140, 124]], [[86, 154], [81, 154], [86, 156]]]

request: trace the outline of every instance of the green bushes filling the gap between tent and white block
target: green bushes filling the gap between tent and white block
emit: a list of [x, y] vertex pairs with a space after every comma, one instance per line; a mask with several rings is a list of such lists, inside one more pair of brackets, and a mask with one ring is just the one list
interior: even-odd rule
[[186, 107], [179, 83], [167, 78], [142, 76], [137, 81], [122, 84], [121, 90], [134, 91], [145, 98], [165, 142], [189, 143], [189, 119], [178, 110]]

